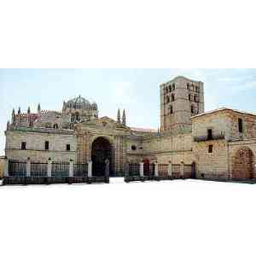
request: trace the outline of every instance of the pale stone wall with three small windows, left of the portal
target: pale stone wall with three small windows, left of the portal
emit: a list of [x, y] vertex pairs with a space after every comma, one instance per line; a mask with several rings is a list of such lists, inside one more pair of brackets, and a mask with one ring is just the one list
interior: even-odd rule
[[[44, 150], [44, 143], [49, 142], [49, 150]], [[26, 142], [26, 150], [20, 145]], [[70, 144], [70, 151], [67, 151]], [[44, 133], [29, 131], [6, 131], [6, 156], [11, 160], [51, 160], [67, 161], [77, 158], [77, 140], [73, 134]]]

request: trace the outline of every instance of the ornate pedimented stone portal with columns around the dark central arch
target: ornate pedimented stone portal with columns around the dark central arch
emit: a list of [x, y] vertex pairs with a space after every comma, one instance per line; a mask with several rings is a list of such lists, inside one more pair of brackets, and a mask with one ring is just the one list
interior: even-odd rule
[[[77, 161], [93, 161], [93, 170], [101, 172], [105, 160], [110, 161], [110, 175], [122, 176], [126, 161], [127, 137], [130, 128], [103, 117], [75, 125]], [[96, 169], [98, 171], [96, 171]]]

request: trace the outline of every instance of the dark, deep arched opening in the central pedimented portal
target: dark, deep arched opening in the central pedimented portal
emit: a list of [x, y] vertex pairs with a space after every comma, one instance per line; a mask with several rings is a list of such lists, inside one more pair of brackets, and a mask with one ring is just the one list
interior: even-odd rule
[[112, 166], [112, 147], [108, 139], [97, 137], [91, 145], [92, 175], [105, 175], [105, 161], [109, 160], [109, 175], [113, 174]]

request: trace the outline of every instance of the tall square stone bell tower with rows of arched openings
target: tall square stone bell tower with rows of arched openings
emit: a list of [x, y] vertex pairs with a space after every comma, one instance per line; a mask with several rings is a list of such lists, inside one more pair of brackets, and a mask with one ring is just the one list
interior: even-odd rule
[[204, 84], [177, 77], [160, 84], [160, 130], [191, 129], [191, 116], [204, 112]]

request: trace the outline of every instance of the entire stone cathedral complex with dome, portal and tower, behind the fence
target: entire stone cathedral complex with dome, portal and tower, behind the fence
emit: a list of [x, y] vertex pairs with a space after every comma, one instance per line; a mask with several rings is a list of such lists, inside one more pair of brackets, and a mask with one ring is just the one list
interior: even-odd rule
[[204, 84], [184, 77], [160, 84], [160, 131], [128, 127], [125, 110], [99, 117], [96, 102], [79, 96], [61, 112], [14, 109], [5, 135], [10, 160], [92, 160], [97, 168], [108, 159], [112, 176], [123, 176], [126, 162], [195, 163], [198, 178], [256, 179], [256, 115], [205, 112]]

